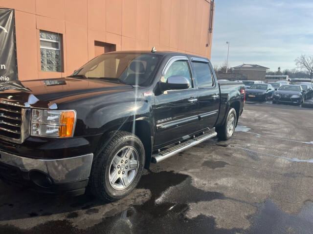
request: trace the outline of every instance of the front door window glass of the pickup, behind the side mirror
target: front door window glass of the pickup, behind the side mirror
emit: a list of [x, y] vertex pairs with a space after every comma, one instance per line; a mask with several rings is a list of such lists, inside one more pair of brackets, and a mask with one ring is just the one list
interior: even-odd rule
[[166, 82], [167, 78], [171, 76], [181, 76], [189, 80], [189, 89], [193, 87], [192, 79], [190, 76], [189, 66], [186, 60], [179, 60], [172, 63], [172, 65], [167, 69], [164, 77], [161, 78], [162, 82]]

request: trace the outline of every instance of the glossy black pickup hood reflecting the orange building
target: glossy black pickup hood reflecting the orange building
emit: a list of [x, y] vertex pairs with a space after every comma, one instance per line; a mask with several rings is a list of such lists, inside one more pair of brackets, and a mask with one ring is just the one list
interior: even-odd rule
[[41, 79], [2, 83], [0, 98], [25, 107], [56, 109], [59, 102], [129, 89], [133, 86], [94, 79]]

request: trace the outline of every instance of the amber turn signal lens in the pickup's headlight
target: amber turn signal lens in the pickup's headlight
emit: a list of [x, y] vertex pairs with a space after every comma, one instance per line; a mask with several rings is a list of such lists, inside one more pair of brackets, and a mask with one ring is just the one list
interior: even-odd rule
[[75, 112], [65, 111], [61, 113], [59, 137], [71, 137], [75, 126]]

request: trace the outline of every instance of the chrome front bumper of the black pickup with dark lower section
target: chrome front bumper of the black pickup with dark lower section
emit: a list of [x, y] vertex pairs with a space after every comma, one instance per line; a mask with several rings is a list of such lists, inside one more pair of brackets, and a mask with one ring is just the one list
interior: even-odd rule
[[0, 151], [0, 177], [40, 192], [85, 192], [93, 154], [62, 159], [35, 159]]

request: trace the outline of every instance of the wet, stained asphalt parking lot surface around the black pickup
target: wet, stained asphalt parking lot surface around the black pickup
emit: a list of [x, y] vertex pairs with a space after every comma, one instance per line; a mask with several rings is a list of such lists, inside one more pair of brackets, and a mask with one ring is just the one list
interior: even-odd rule
[[110, 204], [0, 182], [0, 233], [311, 234], [312, 119], [312, 109], [247, 102], [230, 140], [152, 164]]

